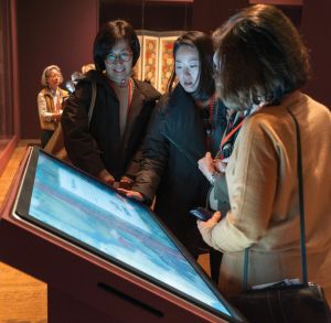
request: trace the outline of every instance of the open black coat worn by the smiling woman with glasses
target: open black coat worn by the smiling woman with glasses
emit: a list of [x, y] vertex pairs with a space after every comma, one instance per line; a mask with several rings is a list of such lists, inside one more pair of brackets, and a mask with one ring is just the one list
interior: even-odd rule
[[[97, 96], [88, 127], [92, 82], [97, 85]], [[119, 101], [103, 74], [90, 71], [67, 99], [61, 120], [64, 144], [71, 161], [79, 169], [95, 176], [106, 169], [116, 181], [124, 175], [135, 176], [138, 170], [135, 154], [141, 148], [160, 94], [148, 83], [137, 79], [134, 83], [122, 138], [119, 129]]]

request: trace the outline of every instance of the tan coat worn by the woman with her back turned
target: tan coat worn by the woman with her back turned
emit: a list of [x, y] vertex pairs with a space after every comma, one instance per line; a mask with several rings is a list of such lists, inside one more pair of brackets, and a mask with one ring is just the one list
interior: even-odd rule
[[297, 142], [286, 107], [301, 132], [308, 278], [331, 304], [331, 114], [300, 91], [246, 119], [226, 169], [232, 209], [203, 236], [224, 252], [224, 295], [242, 290], [247, 247], [249, 286], [301, 278]]

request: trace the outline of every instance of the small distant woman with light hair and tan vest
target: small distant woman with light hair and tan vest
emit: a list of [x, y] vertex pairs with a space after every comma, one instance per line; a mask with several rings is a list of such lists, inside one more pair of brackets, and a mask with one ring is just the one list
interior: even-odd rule
[[61, 69], [56, 65], [47, 66], [41, 77], [43, 89], [38, 94], [38, 110], [41, 125], [41, 147], [44, 148], [54, 133], [63, 111], [68, 93], [60, 87], [63, 82]]

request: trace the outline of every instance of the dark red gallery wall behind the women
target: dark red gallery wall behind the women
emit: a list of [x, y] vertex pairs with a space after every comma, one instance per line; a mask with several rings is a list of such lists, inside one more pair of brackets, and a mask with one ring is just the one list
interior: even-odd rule
[[[189, 21], [192, 29], [210, 32], [246, 6], [248, 0], [194, 0]], [[72, 72], [92, 62], [98, 8], [98, 0], [17, 0], [22, 138], [40, 136], [36, 95], [43, 68], [57, 64], [68, 79]], [[331, 1], [306, 0], [299, 10], [288, 11], [311, 50], [313, 77], [305, 89], [331, 107]]]

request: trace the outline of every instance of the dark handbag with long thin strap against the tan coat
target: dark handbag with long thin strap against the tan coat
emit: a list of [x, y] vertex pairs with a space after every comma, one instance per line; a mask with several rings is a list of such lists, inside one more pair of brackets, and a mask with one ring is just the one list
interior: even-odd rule
[[301, 142], [299, 123], [293, 114], [288, 110], [296, 126], [298, 184], [300, 211], [300, 247], [302, 263], [302, 283], [288, 284], [281, 282], [269, 284], [259, 290], [247, 289], [248, 248], [244, 258], [244, 291], [229, 298], [231, 303], [253, 323], [330, 323], [331, 314], [321, 287], [308, 282], [307, 256], [305, 236], [303, 177], [301, 160]]

